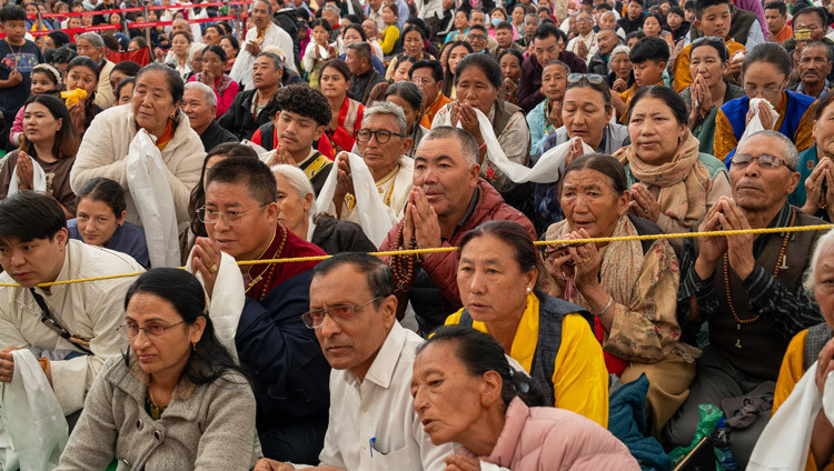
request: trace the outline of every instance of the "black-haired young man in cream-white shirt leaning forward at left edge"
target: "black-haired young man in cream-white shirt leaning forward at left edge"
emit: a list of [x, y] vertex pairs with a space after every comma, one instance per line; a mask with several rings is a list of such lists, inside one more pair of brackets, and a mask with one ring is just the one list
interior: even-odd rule
[[132, 278], [40, 287], [91, 277], [143, 272], [123, 253], [87, 245], [67, 232], [53, 198], [22, 191], [0, 201], [0, 383], [12, 381], [11, 351], [38, 358], [70, 430], [108, 358], [127, 341], [116, 331]]

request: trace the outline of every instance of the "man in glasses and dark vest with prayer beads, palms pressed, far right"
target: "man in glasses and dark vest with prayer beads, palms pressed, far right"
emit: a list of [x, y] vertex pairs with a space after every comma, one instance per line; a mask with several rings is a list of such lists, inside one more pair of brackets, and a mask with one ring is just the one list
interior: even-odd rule
[[[698, 231], [803, 227], [824, 223], [787, 202], [800, 182], [798, 153], [776, 131], [761, 131], [742, 142], [733, 157], [733, 198], [723, 197]], [[816, 240], [824, 231], [738, 234], [685, 239], [681, 259], [678, 319], [692, 332], [709, 322], [709, 345], [698, 360], [689, 397], [666, 427], [673, 444], [688, 444], [698, 404], [721, 404], [733, 427], [731, 445], [744, 469], [767, 423], [770, 407], [745, 411], [742, 397], [773, 394], [791, 339], [822, 322], [820, 308], [802, 280]], [[687, 329], [689, 330], [689, 329]], [[694, 341], [694, 339], [693, 339]], [[749, 423], [748, 427], [744, 427]]]

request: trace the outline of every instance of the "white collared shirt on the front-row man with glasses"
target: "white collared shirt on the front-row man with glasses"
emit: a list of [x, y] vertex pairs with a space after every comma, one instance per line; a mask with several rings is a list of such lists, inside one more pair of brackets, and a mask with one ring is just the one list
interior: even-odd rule
[[411, 367], [423, 339], [399, 322], [388, 332], [365, 381], [330, 372], [330, 411], [321, 465], [351, 471], [445, 470], [450, 443], [431, 444], [414, 410]]

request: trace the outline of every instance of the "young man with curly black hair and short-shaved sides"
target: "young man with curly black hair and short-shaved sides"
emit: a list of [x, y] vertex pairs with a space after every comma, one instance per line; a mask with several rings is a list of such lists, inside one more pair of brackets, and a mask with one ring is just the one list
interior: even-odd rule
[[304, 83], [279, 89], [275, 99], [281, 111], [276, 113], [272, 122], [255, 131], [252, 142], [266, 150], [275, 150], [268, 162], [270, 167], [288, 163], [301, 169], [318, 196], [332, 166], [332, 160], [321, 153], [321, 144], [327, 144], [330, 154], [332, 148], [327, 139], [319, 141], [330, 122], [330, 104], [320, 91]]

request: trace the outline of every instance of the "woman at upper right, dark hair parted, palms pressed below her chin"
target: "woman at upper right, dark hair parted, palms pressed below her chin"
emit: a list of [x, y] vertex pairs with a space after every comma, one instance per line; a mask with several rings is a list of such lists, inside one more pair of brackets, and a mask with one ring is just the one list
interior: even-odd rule
[[715, 37], [698, 38], [689, 49], [689, 73], [695, 80], [681, 97], [691, 110], [689, 130], [704, 153], [713, 153], [718, 109], [729, 100], [744, 97], [744, 89], [724, 78], [728, 61], [727, 47]]

